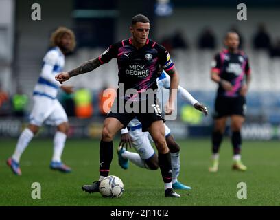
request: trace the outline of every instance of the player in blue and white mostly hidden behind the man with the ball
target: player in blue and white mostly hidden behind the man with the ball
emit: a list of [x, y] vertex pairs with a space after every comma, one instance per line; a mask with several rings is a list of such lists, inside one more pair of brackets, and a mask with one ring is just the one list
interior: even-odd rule
[[[159, 87], [159, 91], [162, 91], [163, 88], [170, 89], [170, 76], [163, 71], [161, 76], [157, 79], [157, 85]], [[178, 94], [182, 96], [184, 100], [193, 105], [195, 109], [198, 109], [207, 115], [207, 108], [191, 96], [186, 89], [179, 86]], [[137, 120], [137, 118], [134, 118], [128, 124], [126, 129], [121, 129], [121, 142], [117, 148], [119, 166], [127, 169], [128, 160], [130, 160], [133, 164], [141, 168], [157, 170], [159, 168], [159, 159], [154, 151], [154, 148], [152, 148], [152, 138], [148, 132], [143, 132], [141, 129], [142, 124], [139, 120]], [[180, 146], [175, 142], [174, 137], [171, 135], [171, 131], [166, 124], [165, 140], [171, 154], [172, 187], [174, 189], [190, 190], [191, 187], [185, 186], [178, 181], [178, 175], [180, 173]], [[126, 149], [124, 148], [124, 144], [126, 144]], [[137, 153], [126, 151], [128, 148], [127, 145], [131, 148], [131, 144]]]

